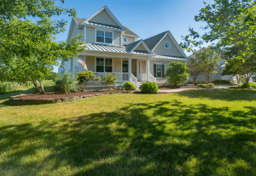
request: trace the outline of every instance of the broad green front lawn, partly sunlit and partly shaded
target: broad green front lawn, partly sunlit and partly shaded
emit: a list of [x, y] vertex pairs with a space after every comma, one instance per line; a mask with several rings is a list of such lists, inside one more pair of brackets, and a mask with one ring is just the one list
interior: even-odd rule
[[0, 175], [256, 175], [255, 99], [225, 89], [2, 101]]

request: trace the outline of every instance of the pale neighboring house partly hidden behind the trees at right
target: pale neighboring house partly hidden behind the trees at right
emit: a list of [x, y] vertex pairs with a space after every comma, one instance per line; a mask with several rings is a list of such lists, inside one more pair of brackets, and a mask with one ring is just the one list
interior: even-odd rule
[[[201, 48], [203, 49], [203, 48]], [[201, 49], [198, 50], [197, 52], [201, 52]], [[190, 59], [196, 59], [195, 57], [195, 54], [191, 54], [189, 55], [189, 60]], [[213, 74], [211, 77], [210, 77], [210, 82], [214, 81], [214, 80], [227, 80], [227, 81], [232, 81], [232, 82], [236, 82], [235, 80], [235, 77], [232, 77], [231, 75], [226, 75], [226, 76], [222, 76], [222, 71], [224, 69], [224, 60], [222, 60], [221, 58], [219, 58], [219, 62], [218, 62], [218, 67], [216, 69], [217, 73], [216, 74]], [[205, 82], [205, 76], [203, 74], [200, 74], [197, 79], [196, 79], [197, 82]], [[189, 77], [189, 80], [188, 82], [193, 82], [193, 79], [192, 77]]]

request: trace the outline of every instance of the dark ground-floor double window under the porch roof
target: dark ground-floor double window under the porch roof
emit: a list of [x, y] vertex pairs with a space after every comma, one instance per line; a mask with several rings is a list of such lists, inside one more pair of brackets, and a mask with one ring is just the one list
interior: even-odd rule
[[112, 72], [113, 60], [108, 58], [96, 59], [96, 72]]

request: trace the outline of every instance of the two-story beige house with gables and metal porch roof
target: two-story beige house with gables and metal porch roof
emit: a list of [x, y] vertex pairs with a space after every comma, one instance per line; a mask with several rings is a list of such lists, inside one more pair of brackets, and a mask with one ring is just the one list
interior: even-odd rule
[[79, 59], [61, 64], [60, 72], [84, 71], [78, 60], [84, 60], [89, 71], [100, 77], [108, 73], [118, 77], [119, 85], [131, 81], [166, 82], [165, 74], [172, 61], [186, 63], [187, 56], [177, 44], [170, 31], [137, 41], [137, 34], [122, 26], [105, 6], [88, 19], [73, 19], [67, 39], [84, 34], [86, 44]]

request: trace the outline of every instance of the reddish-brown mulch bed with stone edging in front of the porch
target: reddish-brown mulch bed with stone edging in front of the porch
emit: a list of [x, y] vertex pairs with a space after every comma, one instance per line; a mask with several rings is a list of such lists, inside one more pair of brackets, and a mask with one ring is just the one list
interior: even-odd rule
[[46, 92], [45, 94], [26, 94], [19, 96], [19, 99], [65, 99], [80, 97], [81, 95], [102, 95], [102, 94], [131, 94], [134, 90], [104, 90], [104, 91], [84, 91], [70, 94], [63, 94], [58, 92]]

